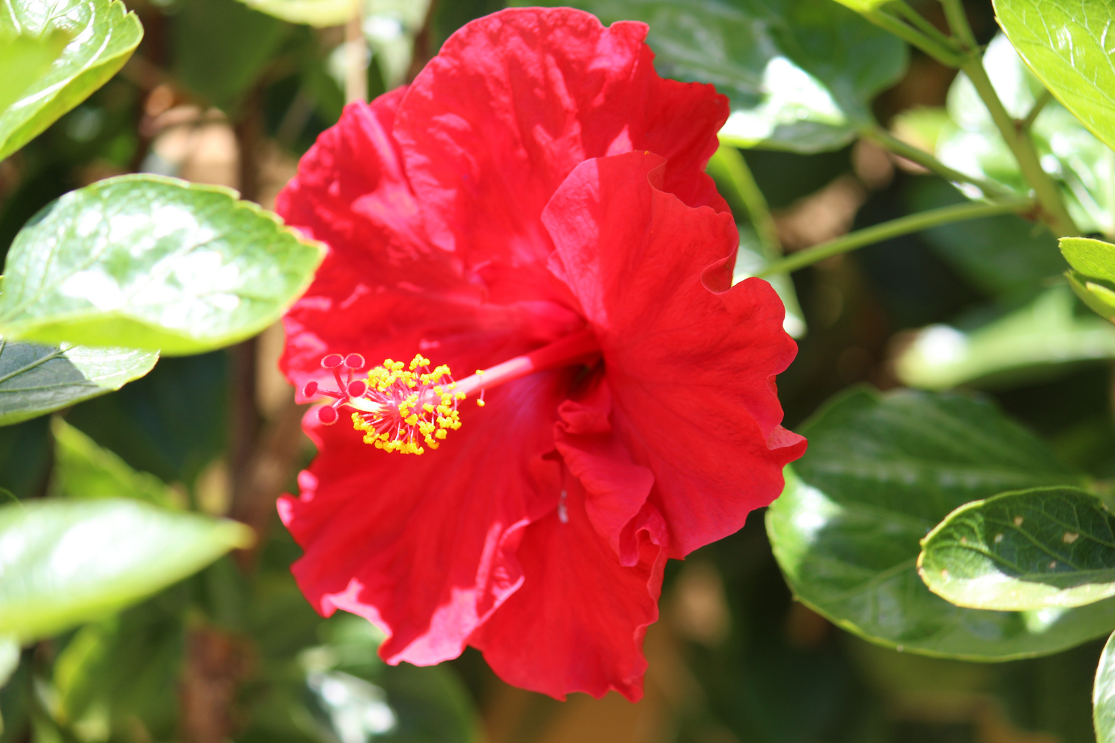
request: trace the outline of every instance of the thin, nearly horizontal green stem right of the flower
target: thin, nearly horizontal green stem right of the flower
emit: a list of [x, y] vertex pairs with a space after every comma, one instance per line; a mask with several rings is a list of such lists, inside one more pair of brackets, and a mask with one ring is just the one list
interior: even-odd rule
[[952, 222], [963, 222], [966, 219], [977, 219], [979, 217], [993, 217], [1000, 214], [1025, 212], [1032, 206], [1034, 203], [1029, 201], [1011, 202], [1006, 204], [968, 203], [944, 206], [939, 209], [930, 209], [928, 212], [920, 212], [918, 214], [911, 214], [909, 216], [884, 222], [882, 224], [872, 225], [871, 227], [866, 227], [864, 229], [857, 229], [856, 232], [831, 239], [827, 243], [822, 243], [820, 245], [814, 245], [813, 247], [807, 247], [804, 251], [798, 251], [787, 255], [780, 261], [775, 261], [756, 275], [769, 276], [770, 274], [776, 273], [791, 273], [792, 271], [797, 271], [798, 268], [813, 265], [818, 261], [831, 258], [834, 255], [841, 255], [842, 253], [854, 251], [857, 247], [880, 243], [884, 239], [890, 239], [891, 237], [898, 237], [899, 235], [908, 235], [912, 232], [920, 232], [929, 227], [935, 227], [938, 225], [949, 224]]

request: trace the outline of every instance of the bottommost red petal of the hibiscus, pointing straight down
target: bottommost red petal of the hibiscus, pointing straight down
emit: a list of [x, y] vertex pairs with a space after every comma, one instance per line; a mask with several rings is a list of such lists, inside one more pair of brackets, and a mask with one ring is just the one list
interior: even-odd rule
[[[564, 509], [524, 530], [523, 585], [468, 644], [501, 678], [564, 700], [615, 690], [642, 696], [642, 639], [658, 619], [666, 526], [647, 507], [637, 519], [639, 561], [621, 566], [584, 510], [588, 496], [570, 478]], [[565, 515], [563, 520], [560, 514]]]

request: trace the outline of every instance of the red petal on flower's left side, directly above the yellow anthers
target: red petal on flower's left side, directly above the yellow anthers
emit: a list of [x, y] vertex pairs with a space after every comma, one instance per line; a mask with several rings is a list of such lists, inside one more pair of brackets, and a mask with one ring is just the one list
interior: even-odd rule
[[536, 296], [486, 303], [475, 276], [429, 244], [391, 135], [404, 94], [346, 107], [275, 199], [288, 224], [329, 246], [313, 284], [283, 319], [281, 366], [299, 402], [307, 401], [306, 382], [332, 385], [319, 365], [327, 353], [357, 352], [379, 363], [421, 352], [466, 375], [582, 322]]

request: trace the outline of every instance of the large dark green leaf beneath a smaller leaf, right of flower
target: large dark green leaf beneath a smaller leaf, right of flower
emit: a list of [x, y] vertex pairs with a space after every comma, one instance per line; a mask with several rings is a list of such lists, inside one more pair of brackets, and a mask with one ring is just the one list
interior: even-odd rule
[[841, 627], [913, 653], [1006, 661], [1055, 653], [1115, 626], [1115, 599], [987, 612], [953, 606], [918, 576], [919, 540], [959, 506], [1079, 482], [989, 403], [860, 388], [799, 431], [809, 448], [787, 469], [767, 532], [794, 594]]

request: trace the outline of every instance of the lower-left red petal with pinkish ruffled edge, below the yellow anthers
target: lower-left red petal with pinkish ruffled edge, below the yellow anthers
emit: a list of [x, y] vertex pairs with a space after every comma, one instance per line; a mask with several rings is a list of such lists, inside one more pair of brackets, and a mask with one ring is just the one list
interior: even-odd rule
[[558, 502], [559, 466], [544, 456], [569, 383], [551, 372], [501, 387], [420, 457], [363, 444], [343, 421], [311, 422], [320, 453], [279, 512], [306, 550], [292, 570], [314, 608], [376, 623], [388, 663], [459, 655], [518, 588], [524, 526]]

